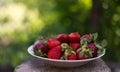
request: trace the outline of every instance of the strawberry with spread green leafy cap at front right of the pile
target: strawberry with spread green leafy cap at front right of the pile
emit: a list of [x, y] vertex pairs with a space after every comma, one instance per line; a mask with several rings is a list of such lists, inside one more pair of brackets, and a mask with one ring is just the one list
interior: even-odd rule
[[83, 45], [82, 48], [79, 48], [77, 50], [77, 59], [82, 60], [82, 59], [89, 59], [92, 58], [92, 49], [88, 48], [87, 46]]

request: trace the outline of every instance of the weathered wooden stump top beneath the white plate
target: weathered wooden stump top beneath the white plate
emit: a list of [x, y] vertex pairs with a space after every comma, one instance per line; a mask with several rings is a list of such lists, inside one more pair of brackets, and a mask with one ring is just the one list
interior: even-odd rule
[[59, 68], [34, 58], [17, 66], [14, 72], [111, 72], [111, 70], [102, 59], [91, 61], [80, 67]]

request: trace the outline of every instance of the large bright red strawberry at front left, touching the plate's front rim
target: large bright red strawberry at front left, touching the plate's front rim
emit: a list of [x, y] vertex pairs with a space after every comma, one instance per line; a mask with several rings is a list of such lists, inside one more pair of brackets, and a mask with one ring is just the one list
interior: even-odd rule
[[51, 59], [60, 59], [61, 56], [61, 47], [56, 46], [48, 51], [48, 58]]

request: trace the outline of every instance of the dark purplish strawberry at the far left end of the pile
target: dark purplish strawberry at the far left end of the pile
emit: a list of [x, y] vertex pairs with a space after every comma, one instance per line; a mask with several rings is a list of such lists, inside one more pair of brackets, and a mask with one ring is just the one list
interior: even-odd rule
[[46, 47], [46, 45], [44, 44], [44, 43], [42, 43], [42, 42], [37, 42], [35, 45], [34, 45], [34, 51], [40, 51], [40, 52], [42, 52], [42, 54], [44, 54], [44, 53], [47, 53], [47, 47]]

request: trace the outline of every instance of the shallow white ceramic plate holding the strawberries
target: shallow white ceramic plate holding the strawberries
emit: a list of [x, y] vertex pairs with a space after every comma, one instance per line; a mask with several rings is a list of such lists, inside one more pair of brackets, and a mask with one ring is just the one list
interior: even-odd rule
[[90, 58], [90, 59], [84, 59], [84, 60], [56, 60], [56, 59], [50, 59], [50, 58], [44, 58], [40, 57], [34, 54], [33, 51], [33, 45], [31, 45], [28, 48], [28, 53], [34, 57], [37, 57], [41, 60], [43, 60], [45, 63], [53, 65], [53, 66], [58, 66], [58, 67], [76, 67], [76, 66], [81, 66], [86, 64], [89, 61], [96, 60], [98, 58], [101, 58], [105, 54], [105, 50], [101, 55], [98, 55], [95, 58]]

